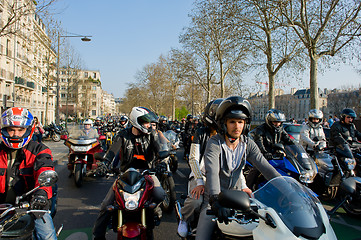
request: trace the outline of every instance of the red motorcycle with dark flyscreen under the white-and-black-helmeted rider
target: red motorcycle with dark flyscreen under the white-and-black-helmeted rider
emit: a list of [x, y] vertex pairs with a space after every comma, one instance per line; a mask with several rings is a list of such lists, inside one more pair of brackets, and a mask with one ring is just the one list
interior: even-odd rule
[[115, 204], [112, 211], [113, 230], [117, 239], [153, 239], [155, 226], [152, 191], [154, 182], [146, 170], [129, 168], [113, 184]]

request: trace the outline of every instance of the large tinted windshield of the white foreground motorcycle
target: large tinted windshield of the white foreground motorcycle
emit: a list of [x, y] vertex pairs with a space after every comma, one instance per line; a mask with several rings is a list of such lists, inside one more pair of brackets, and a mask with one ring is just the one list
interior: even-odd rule
[[318, 239], [325, 233], [320, 203], [302, 184], [291, 177], [277, 177], [253, 193], [255, 199], [273, 208], [295, 236]]

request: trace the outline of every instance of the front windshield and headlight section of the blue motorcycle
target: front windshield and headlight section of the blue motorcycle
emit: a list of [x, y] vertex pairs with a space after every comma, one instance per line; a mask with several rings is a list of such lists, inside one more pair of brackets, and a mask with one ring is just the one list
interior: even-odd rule
[[287, 158], [294, 160], [291, 162], [300, 174], [308, 174], [312, 179], [316, 176], [316, 163], [301, 145], [286, 145], [285, 150]]

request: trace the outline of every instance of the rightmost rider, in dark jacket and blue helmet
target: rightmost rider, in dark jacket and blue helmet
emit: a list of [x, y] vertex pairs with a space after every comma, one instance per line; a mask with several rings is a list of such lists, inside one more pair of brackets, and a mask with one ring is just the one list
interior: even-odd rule
[[330, 145], [339, 147], [353, 142], [361, 141], [361, 133], [356, 130], [353, 120], [356, 112], [351, 108], [345, 108], [341, 112], [340, 121], [332, 124], [330, 129]]

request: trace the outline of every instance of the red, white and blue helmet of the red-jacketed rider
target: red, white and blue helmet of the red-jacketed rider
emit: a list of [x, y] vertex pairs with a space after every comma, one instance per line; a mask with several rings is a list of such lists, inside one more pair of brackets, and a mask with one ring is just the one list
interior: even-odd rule
[[[1, 115], [1, 139], [3, 143], [13, 149], [23, 148], [33, 137], [35, 130], [34, 117], [26, 108], [9, 108]], [[7, 132], [8, 127], [26, 128], [26, 132], [21, 137], [10, 137]]]

